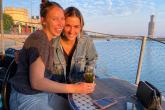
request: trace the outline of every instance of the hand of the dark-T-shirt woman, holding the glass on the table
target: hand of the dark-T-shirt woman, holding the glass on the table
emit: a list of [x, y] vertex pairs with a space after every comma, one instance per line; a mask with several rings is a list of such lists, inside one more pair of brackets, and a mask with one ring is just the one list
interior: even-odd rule
[[88, 94], [95, 90], [95, 83], [79, 82], [68, 86], [70, 93]]

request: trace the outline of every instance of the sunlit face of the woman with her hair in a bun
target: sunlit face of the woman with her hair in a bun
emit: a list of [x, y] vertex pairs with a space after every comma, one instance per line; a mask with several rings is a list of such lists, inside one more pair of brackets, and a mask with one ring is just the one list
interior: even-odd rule
[[63, 10], [55, 6], [50, 8], [46, 17], [42, 18], [42, 24], [48, 35], [59, 36], [65, 25]]

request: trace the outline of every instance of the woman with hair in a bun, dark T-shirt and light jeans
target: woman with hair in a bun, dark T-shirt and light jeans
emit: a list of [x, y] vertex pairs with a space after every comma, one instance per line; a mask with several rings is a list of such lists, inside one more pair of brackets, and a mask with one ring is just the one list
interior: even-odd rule
[[32, 33], [19, 53], [17, 72], [11, 79], [11, 110], [67, 110], [66, 99], [55, 93], [91, 93], [95, 84], [64, 84], [52, 81], [52, 38], [61, 34], [65, 25], [64, 11], [56, 2], [40, 6], [42, 30]]

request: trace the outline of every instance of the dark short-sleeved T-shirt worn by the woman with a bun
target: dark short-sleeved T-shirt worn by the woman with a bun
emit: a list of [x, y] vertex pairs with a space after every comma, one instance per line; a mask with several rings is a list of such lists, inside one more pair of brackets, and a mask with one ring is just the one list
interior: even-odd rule
[[31, 88], [29, 79], [29, 67], [41, 57], [45, 64], [45, 77], [51, 78], [53, 71], [53, 47], [43, 31], [32, 33], [25, 41], [19, 54], [19, 63], [15, 76], [11, 79], [13, 88], [23, 94], [36, 94], [41, 91]]

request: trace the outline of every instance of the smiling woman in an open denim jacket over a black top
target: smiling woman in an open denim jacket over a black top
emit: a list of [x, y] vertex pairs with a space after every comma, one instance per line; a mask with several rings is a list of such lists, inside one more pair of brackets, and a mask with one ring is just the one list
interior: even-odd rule
[[61, 36], [53, 41], [56, 68], [54, 80], [84, 82], [84, 73], [93, 72], [97, 52], [92, 39], [83, 36], [83, 26], [84, 19], [77, 8], [65, 9], [65, 27]]

